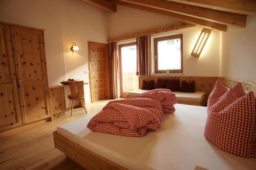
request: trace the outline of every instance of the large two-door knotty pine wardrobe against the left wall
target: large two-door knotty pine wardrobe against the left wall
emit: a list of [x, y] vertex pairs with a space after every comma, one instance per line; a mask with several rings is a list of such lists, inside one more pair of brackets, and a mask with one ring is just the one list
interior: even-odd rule
[[44, 31], [0, 29], [0, 131], [51, 118]]

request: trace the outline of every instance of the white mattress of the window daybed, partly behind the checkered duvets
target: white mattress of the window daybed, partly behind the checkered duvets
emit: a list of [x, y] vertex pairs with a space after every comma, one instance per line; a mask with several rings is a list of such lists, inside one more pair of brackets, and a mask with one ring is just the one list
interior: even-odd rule
[[[142, 89], [134, 90], [134, 91], [130, 91], [128, 95], [136, 96], [138, 94], [141, 94], [147, 91], [150, 91], [150, 90], [142, 90]], [[172, 91], [172, 92], [176, 95], [179, 101], [202, 102], [206, 96], [206, 93], [203, 91], [196, 91], [195, 93], [179, 92], [179, 91]]]

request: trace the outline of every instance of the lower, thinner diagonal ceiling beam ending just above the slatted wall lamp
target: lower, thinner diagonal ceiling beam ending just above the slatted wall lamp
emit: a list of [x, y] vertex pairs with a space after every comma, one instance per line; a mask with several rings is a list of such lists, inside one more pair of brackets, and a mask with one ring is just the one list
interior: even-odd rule
[[210, 29], [215, 29], [215, 30], [225, 31], [225, 32], [227, 31], [226, 25], [223, 25], [223, 24], [217, 23], [217, 22], [212, 22], [212, 21], [208, 21], [208, 20], [204, 20], [204, 19], [200, 19], [200, 18], [195, 18], [195, 17], [183, 15], [183, 14], [178, 14], [175, 12], [160, 10], [157, 8], [151, 8], [151, 7], [146, 7], [146, 6], [142, 6], [142, 5], [138, 5], [138, 4], [127, 3], [127, 2], [123, 2], [123, 1], [119, 1], [119, 0], [110, 0], [110, 2], [113, 4], [124, 5], [124, 6], [131, 7], [131, 8], [136, 8], [136, 9], [140, 9], [140, 10], [144, 10], [144, 11], [153, 12], [153, 13], [163, 15], [166, 17], [170, 17], [173, 19], [177, 19], [177, 20], [181, 20], [181, 21], [185, 21], [185, 22], [189, 22], [189, 23], [194, 23], [196, 25], [200, 25], [200, 26], [210, 28]]

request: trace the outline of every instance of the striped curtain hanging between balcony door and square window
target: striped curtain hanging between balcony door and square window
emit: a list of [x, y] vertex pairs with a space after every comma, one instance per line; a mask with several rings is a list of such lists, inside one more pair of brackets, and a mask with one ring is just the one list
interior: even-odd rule
[[151, 75], [150, 36], [137, 38], [137, 76]]

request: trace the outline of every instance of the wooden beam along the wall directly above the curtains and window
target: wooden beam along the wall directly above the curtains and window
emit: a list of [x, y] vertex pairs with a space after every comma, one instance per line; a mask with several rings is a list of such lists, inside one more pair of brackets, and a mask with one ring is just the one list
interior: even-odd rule
[[180, 23], [180, 24], [172, 25], [172, 26], [168, 26], [168, 27], [162, 27], [162, 28], [157, 28], [157, 29], [153, 29], [153, 30], [141, 31], [141, 32], [138, 32], [138, 33], [124, 35], [124, 36], [120, 36], [120, 37], [116, 37], [116, 38], [109, 38], [108, 43], [117, 42], [117, 41], [121, 41], [121, 40], [125, 40], [125, 39], [131, 39], [131, 38], [137, 38], [137, 37], [152, 35], [152, 34], [163, 33], [163, 32], [167, 32], [167, 31], [173, 31], [173, 30], [179, 30], [179, 29], [184, 29], [184, 28], [189, 28], [189, 27], [195, 27], [195, 26], [196, 25], [194, 25], [193, 23], [184, 22], [184, 23]]

